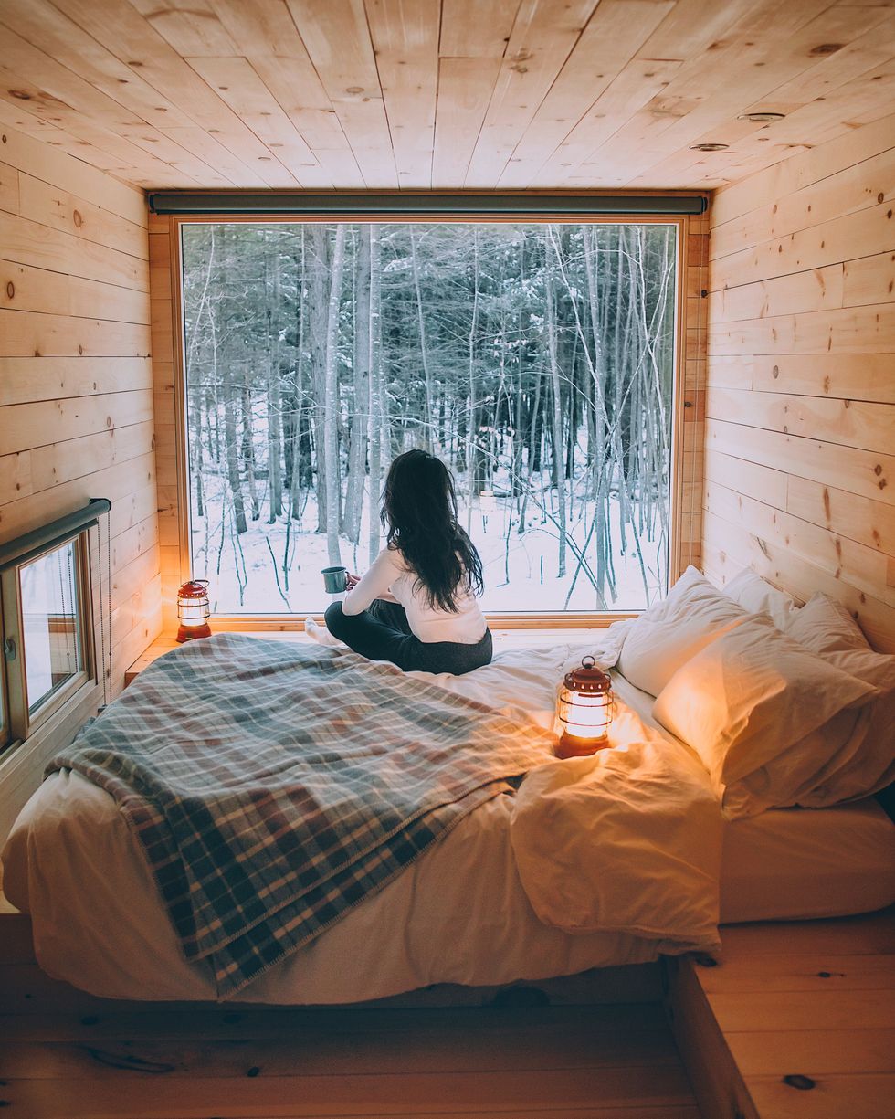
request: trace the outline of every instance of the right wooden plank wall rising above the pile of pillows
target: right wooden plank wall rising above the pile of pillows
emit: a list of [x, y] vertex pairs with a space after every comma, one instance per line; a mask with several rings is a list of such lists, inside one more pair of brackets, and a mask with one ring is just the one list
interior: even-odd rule
[[895, 652], [895, 116], [713, 199], [704, 567]]

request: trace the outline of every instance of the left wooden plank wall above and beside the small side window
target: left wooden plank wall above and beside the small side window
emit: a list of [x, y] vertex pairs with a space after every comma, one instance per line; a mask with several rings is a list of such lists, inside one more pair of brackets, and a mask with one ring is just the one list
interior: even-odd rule
[[161, 628], [149, 320], [143, 192], [0, 128], [0, 540], [110, 498], [113, 693]]

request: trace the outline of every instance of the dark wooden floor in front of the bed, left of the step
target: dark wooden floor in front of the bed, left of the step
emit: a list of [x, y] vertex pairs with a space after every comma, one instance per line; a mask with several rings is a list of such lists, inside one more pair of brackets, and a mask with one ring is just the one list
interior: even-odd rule
[[0, 1018], [0, 1107], [10, 1119], [699, 1119], [654, 1003], [3, 1009], [17, 1012]]

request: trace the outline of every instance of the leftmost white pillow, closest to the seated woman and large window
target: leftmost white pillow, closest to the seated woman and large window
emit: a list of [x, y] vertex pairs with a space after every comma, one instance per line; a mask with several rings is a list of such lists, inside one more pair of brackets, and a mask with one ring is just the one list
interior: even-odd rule
[[680, 666], [746, 617], [695, 567], [644, 611], [622, 645], [618, 669], [634, 687], [658, 695]]

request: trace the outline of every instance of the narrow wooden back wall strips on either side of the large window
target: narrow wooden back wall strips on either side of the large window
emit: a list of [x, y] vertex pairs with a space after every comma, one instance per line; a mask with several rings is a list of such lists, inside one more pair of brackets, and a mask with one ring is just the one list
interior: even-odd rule
[[[159, 482], [159, 540], [164, 632], [177, 629], [177, 589], [190, 576], [188, 547], [180, 540], [178, 511], [179, 450], [177, 442], [175, 378], [181, 376], [179, 342], [175, 341], [171, 274], [173, 223], [150, 214], [149, 256], [152, 293], [152, 367], [156, 416], [156, 467]], [[705, 441], [705, 358], [708, 261], [708, 215], [690, 216], [684, 224], [684, 408], [677, 479], [678, 567], [701, 563], [703, 444]], [[176, 359], [177, 358], [177, 359]], [[181, 557], [182, 562], [181, 562]], [[273, 615], [265, 629], [303, 628], [286, 615]]]

